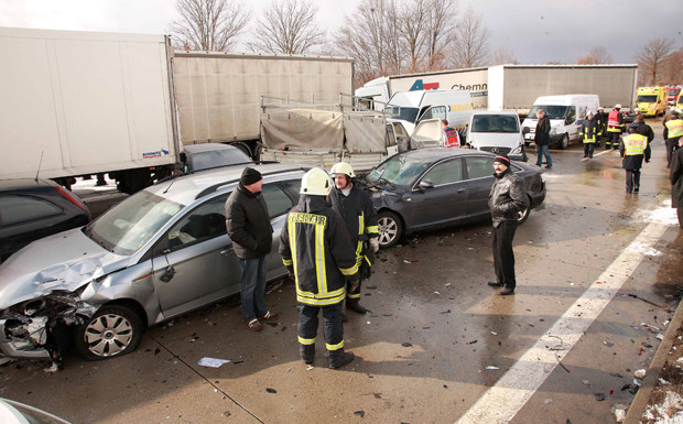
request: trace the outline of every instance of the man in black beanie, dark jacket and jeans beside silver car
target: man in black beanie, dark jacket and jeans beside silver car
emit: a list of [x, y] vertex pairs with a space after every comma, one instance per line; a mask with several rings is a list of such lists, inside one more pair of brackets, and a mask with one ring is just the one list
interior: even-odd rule
[[265, 308], [265, 257], [273, 243], [268, 206], [261, 195], [261, 173], [246, 167], [237, 189], [226, 200], [226, 227], [242, 275], [239, 293], [242, 316], [253, 331], [263, 326], [258, 318], [277, 320], [278, 314]]

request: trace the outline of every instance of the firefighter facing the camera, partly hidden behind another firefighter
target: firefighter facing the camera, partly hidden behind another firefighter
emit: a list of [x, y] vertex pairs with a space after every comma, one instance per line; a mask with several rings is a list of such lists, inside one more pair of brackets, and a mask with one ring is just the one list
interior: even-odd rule
[[[348, 162], [336, 163], [329, 173], [335, 183], [329, 194], [332, 208], [344, 218], [351, 244], [356, 248], [356, 263], [360, 272], [360, 282], [362, 282], [370, 278], [375, 253], [379, 250], [377, 210], [372, 206], [370, 196], [354, 185], [351, 178], [355, 178], [356, 174]], [[360, 284], [355, 290], [347, 285], [346, 308], [359, 314], [367, 312], [360, 305]]]

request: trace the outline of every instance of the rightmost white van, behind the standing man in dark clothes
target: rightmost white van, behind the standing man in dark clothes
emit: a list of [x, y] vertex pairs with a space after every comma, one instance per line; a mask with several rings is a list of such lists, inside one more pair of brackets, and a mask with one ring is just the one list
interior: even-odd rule
[[541, 96], [529, 110], [529, 116], [522, 123], [524, 142], [529, 145], [533, 142], [536, 130], [536, 111], [543, 109], [550, 119], [550, 142], [557, 144], [560, 149], [566, 149], [572, 140], [578, 139], [581, 126], [586, 119], [586, 112], [595, 112], [600, 106], [597, 95], [563, 95]]

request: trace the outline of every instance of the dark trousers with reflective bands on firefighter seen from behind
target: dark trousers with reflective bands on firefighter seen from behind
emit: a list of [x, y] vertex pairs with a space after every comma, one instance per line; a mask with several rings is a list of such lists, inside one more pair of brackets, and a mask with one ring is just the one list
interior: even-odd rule
[[315, 344], [318, 312], [323, 309], [323, 334], [325, 335], [328, 357], [344, 356], [343, 302], [325, 306], [299, 303], [296, 308], [299, 309], [299, 343], [301, 346], [313, 346]]

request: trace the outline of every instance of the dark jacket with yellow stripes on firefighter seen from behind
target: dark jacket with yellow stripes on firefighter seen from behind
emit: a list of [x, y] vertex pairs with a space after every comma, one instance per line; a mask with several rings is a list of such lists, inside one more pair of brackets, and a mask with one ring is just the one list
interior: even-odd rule
[[346, 278], [358, 278], [344, 219], [323, 196], [301, 196], [280, 233], [280, 254], [296, 281], [296, 301], [334, 305], [346, 296]]

